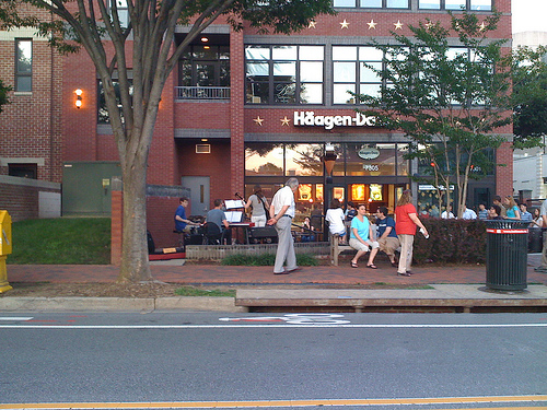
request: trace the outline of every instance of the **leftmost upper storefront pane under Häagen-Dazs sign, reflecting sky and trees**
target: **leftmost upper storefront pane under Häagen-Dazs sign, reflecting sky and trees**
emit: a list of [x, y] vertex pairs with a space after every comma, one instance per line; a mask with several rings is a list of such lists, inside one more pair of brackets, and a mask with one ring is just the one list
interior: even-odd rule
[[247, 144], [245, 148], [245, 175], [283, 175], [282, 144]]

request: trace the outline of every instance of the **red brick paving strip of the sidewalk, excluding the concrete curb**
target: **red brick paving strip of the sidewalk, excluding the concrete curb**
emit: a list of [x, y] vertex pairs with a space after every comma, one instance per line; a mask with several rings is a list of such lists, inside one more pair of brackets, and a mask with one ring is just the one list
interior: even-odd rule
[[[527, 282], [547, 284], [547, 273], [534, 271], [540, 254], [528, 255]], [[173, 261], [182, 263], [182, 261]], [[152, 276], [162, 282], [182, 284], [432, 284], [485, 283], [485, 266], [417, 266], [411, 277], [397, 277], [396, 268], [379, 260], [379, 269], [368, 269], [363, 260], [354, 269], [340, 266], [304, 267], [291, 274], [274, 274], [271, 267], [219, 265], [151, 265]], [[10, 282], [89, 283], [115, 282], [119, 269], [110, 265], [8, 265]]]

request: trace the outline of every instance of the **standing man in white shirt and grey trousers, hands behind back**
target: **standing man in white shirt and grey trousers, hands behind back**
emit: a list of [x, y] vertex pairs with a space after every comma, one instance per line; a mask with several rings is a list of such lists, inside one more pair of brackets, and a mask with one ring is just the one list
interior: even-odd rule
[[[291, 235], [291, 223], [294, 218], [294, 211], [296, 210], [294, 203], [294, 191], [298, 188], [299, 180], [296, 178], [289, 178], [284, 184], [284, 187], [279, 189], [271, 200], [271, 219], [267, 222], [267, 224], [275, 225], [278, 235], [274, 274], [288, 274], [301, 269], [296, 266], [294, 241]], [[286, 260], [287, 268], [283, 268]]]

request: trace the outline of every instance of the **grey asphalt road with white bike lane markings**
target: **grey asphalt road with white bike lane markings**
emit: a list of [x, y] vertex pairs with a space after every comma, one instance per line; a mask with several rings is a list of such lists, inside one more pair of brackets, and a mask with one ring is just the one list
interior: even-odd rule
[[547, 405], [546, 314], [0, 313], [0, 409]]

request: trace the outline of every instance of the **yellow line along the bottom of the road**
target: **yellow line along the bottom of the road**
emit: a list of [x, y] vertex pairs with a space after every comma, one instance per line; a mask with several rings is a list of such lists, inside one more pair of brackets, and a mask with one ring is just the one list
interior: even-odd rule
[[[485, 397], [440, 397], [416, 399], [325, 399], [325, 400], [245, 400], [245, 401], [170, 401], [170, 402], [67, 402], [67, 403], [11, 403], [0, 409], [231, 409], [231, 408], [271, 408], [271, 407], [316, 407], [316, 406], [399, 406], [399, 405], [466, 405], [503, 402], [542, 402], [543, 396], [485, 396]], [[509, 408], [503, 408], [509, 409]], [[514, 407], [511, 409], [515, 409]], [[521, 410], [547, 410], [547, 407]], [[478, 410], [478, 409], [477, 409]], [[486, 410], [486, 409], [482, 409]], [[496, 410], [502, 410], [500, 408]]]

